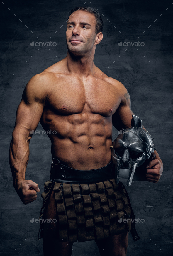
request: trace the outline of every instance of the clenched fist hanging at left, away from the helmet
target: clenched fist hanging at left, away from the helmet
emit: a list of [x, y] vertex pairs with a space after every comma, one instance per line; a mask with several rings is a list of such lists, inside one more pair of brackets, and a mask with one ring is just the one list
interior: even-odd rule
[[16, 188], [16, 192], [24, 205], [33, 202], [37, 198], [37, 192], [39, 191], [38, 184], [30, 179], [21, 181]]

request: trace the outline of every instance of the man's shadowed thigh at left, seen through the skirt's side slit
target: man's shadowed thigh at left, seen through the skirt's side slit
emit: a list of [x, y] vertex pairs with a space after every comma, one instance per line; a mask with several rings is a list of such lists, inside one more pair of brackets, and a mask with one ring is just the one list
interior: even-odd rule
[[[62, 242], [58, 232], [58, 214], [56, 210], [55, 192], [52, 191], [43, 220], [46, 220], [43, 228], [43, 252], [44, 256], [71, 256], [72, 242]], [[50, 220], [47, 221], [47, 220]], [[56, 222], [53, 220], [57, 220]]]

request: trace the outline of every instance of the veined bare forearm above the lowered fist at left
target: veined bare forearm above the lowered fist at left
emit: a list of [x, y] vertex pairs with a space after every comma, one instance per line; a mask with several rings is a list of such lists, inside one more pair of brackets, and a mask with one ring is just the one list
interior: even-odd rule
[[18, 188], [21, 181], [25, 180], [28, 160], [29, 140], [20, 133], [13, 133], [9, 151], [9, 163], [15, 189]]

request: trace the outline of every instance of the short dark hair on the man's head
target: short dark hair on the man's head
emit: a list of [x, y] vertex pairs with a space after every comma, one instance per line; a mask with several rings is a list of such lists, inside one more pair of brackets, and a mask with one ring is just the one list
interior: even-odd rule
[[[78, 10], [83, 10], [83, 11], [88, 11], [91, 14], [94, 14], [95, 18], [96, 18], [96, 28], [95, 28], [95, 33], [98, 34], [99, 32], [103, 31], [103, 20], [101, 18], [101, 15], [99, 14], [99, 11], [96, 8], [93, 7], [75, 7], [74, 9], [72, 9], [69, 12], [69, 16], [74, 12], [74, 11], [78, 11]], [[67, 19], [67, 21], [69, 20], [69, 17]]]

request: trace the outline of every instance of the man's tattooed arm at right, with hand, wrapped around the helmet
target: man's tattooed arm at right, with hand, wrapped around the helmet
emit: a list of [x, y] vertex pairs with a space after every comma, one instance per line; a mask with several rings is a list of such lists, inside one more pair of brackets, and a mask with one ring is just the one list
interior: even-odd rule
[[[134, 113], [131, 110], [130, 95], [127, 89], [120, 82], [118, 82], [118, 89], [121, 92], [121, 103], [116, 112], [112, 115], [112, 124], [117, 130], [121, 130], [122, 128], [131, 127], [131, 119]], [[146, 131], [144, 127], [143, 129]], [[148, 162], [147, 166], [145, 166], [147, 168], [146, 177], [149, 182], [157, 183], [163, 172], [163, 163], [156, 150], [154, 154], [156, 155], [155, 159]], [[145, 164], [146, 162], [144, 165]]]

